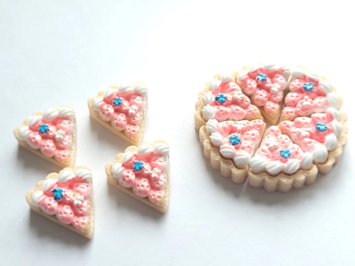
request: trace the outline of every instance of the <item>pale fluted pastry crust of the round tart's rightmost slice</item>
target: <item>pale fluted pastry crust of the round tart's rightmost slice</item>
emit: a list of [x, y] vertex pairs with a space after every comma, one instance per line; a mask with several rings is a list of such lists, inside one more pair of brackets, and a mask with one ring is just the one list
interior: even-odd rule
[[343, 153], [343, 148], [346, 142], [348, 142], [348, 137], [346, 136], [346, 134], [348, 133], [348, 127], [346, 127], [345, 125], [346, 121], [348, 120], [348, 116], [346, 115], [346, 113], [343, 112], [341, 112], [340, 114], [340, 123], [343, 126], [343, 131], [338, 137], [337, 147], [334, 150], [329, 151], [326, 162], [324, 162], [323, 164], [320, 164], [318, 162], [315, 163], [315, 165], [318, 167], [318, 171], [323, 174], [326, 174], [331, 171], [333, 165], [339, 162], [340, 155], [342, 155]]

